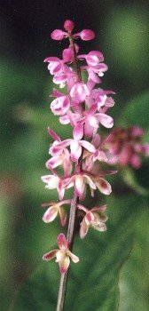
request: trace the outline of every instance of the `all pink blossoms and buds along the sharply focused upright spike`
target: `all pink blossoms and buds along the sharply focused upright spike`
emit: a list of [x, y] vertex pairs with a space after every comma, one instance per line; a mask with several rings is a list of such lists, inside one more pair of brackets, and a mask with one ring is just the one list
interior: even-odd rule
[[[82, 205], [80, 201], [86, 195], [86, 185], [90, 187], [91, 196], [94, 196], [97, 188], [101, 194], [110, 195], [112, 189], [105, 177], [116, 171], [101, 171], [99, 166], [102, 162], [110, 163], [110, 151], [117, 156], [120, 144], [115, 140], [112, 145], [115, 138], [114, 132], [111, 138], [108, 136], [104, 140], [98, 134], [100, 125], [107, 129], [114, 125], [113, 118], [106, 114], [107, 110], [114, 106], [114, 100], [109, 96], [114, 92], [104, 91], [98, 87], [98, 84], [102, 83], [101, 77], [107, 70], [104, 56], [98, 51], [80, 54], [79, 46], [75, 44], [75, 39], [88, 41], [93, 39], [95, 34], [89, 29], [72, 34], [74, 23], [71, 20], [65, 21], [64, 28], [65, 31], [56, 29], [51, 33], [53, 40], [66, 38], [69, 40], [69, 46], [62, 52], [62, 59], [48, 57], [44, 62], [48, 63], [53, 83], [59, 86], [59, 89], [53, 89], [51, 94], [54, 98], [51, 101], [51, 111], [55, 116], [59, 116], [60, 124], [71, 125], [73, 135], [72, 138], [61, 140], [57, 133], [48, 128], [54, 140], [49, 149], [51, 158], [46, 162], [46, 167], [51, 174], [43, 176], [42, 179], [47, 189], [57, 189], [59, 203], [43, 204], [43, 207], [48, 208], [43, 215], [43, 221], [50, 223], [59, 216], [61, 225], [66, 225], [66, 205], [71, 205], [72, 200], [63, 198], [65, 191], [74, 187], [74, 195], [77, 197], [75, 208], [83, 215], [80, 236], [84, 238], [89, 227], [98, 231], [106, 230], [107, 217], [104, 214], [106, 205], [90, 209]], [[86, 82], [82, 80], [82, 72], [87, 76]], [[63, 92], [64, 87], [67, 88], [67, 93]], [[122, 152], [128, 151], [124, 149]], [[134, 160], [133, 163], [135, 163]], [[63, 169], [63, 175], [59, 174], [59, 166]], [[68, 238], [62, 233], [58, 237], [58, 245], [59, 250], [44, 254], [43, 259], [50, 260], [56, 257], [60, 272], [66, 273], [70, 259], [74, 262], [79, 259], [71, 252]]]

